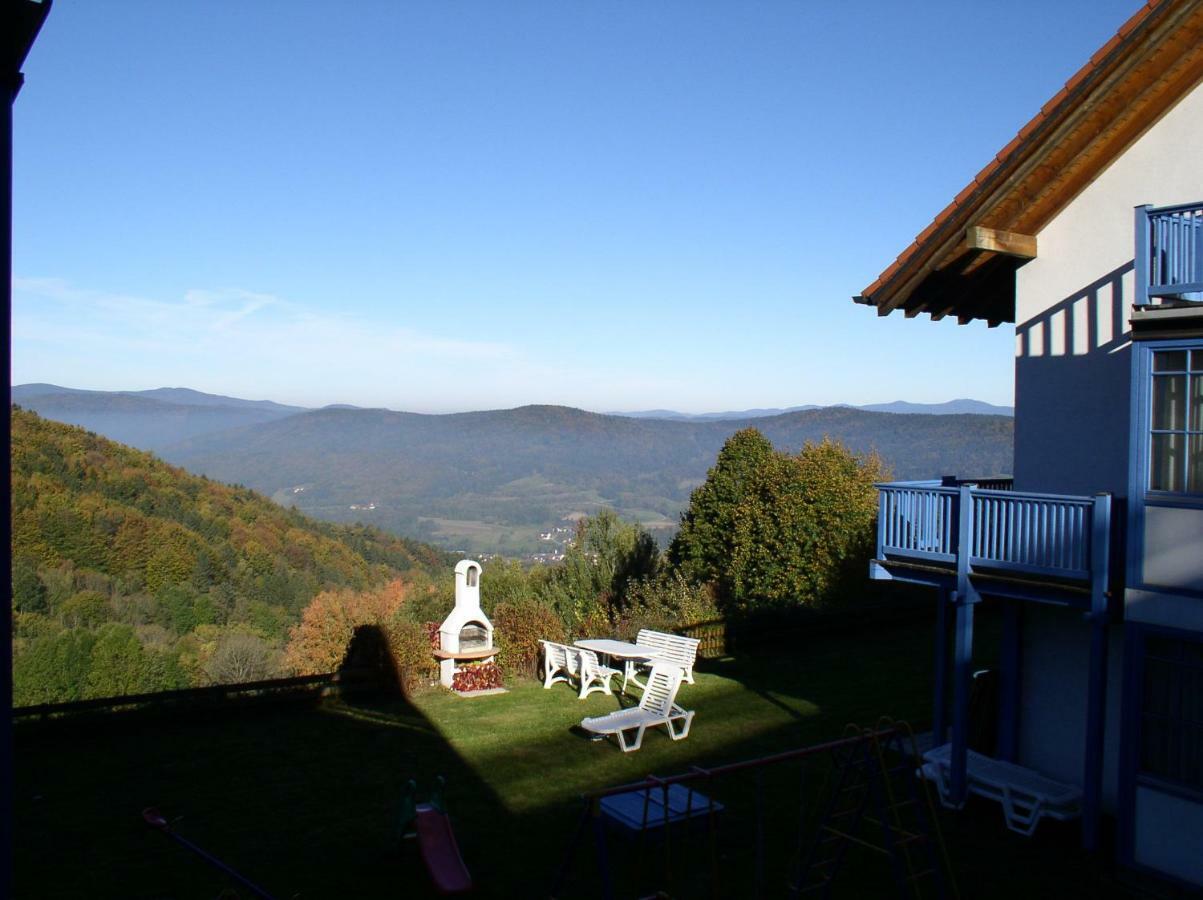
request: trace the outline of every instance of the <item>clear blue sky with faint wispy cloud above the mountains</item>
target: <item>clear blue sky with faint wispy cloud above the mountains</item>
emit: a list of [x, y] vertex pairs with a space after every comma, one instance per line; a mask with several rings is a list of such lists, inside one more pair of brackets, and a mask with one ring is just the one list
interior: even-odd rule
[[57, 0], [13, 383], [1009, 404], [1012, 328], [851, 296], [1137, 5]]

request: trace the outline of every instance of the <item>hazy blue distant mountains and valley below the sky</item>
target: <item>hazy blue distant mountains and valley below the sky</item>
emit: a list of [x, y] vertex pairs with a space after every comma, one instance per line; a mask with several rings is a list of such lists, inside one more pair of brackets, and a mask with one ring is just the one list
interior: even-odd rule
[[877, 451], [900, 479], [1009, 472], [1013, 434], [1006, 415], [853, 407], [688, 419], [546, 405], [425, 415], [52, 385], [20, 385], [13, 399], [319, 519], [510, 555], [546, 549], [540, 533], [604, 505], [670, 533], [719, 448], [748, 425], [783, 450], [832, 437]]

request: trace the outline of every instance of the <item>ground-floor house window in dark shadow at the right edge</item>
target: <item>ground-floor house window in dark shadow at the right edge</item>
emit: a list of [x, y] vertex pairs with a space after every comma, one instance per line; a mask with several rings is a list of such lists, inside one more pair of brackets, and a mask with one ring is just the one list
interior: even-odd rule
[[1203, 791], [1203, 643], [1150, 636], [1140, 704], [1140, 772]]

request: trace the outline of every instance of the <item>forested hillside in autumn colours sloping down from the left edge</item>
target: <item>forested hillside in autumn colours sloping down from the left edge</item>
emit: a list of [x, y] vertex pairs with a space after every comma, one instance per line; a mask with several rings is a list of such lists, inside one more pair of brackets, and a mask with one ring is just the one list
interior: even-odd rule
[[319, 592], [428, 582], [451, 562], [20, 408], [11, 550], [18, 704], [280, 674]]

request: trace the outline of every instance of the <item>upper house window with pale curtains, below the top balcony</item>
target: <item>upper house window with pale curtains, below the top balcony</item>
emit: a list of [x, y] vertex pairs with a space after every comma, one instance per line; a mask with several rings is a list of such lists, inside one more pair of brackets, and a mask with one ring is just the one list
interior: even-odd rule
[[1203, 349], [1154, 350], [1149, 490], [1203, 493]]

